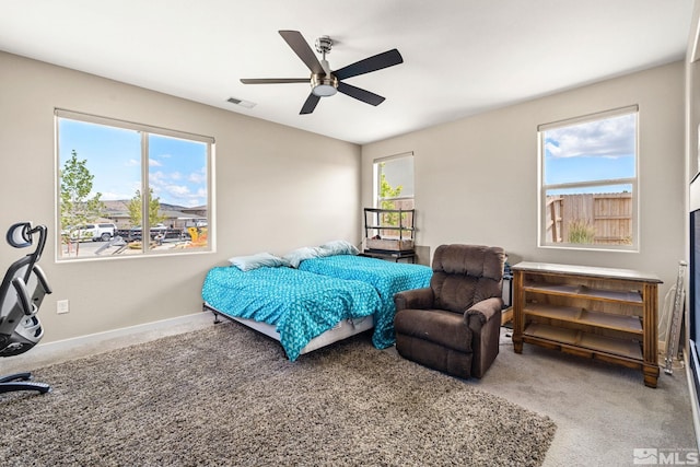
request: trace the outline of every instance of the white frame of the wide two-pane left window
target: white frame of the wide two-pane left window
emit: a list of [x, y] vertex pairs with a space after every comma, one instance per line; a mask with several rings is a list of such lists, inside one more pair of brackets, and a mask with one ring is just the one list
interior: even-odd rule
[[[141, 192], [148, 194], [150, 189], [149, 184], [149, 148], [148, 139], [149, 135], [170, 137], [188, 141], [201, 142], [207, 145], [207, 246], [198, 248], [183, 248], [183, 249], [167, 249], [167, 250], [154, 250], [143, 245], [139, 254], [132, 255], [95, 255], [94, 257], [62, 257], [61, 256], [61, 211], [60, 211], [60, 154], [59, 154], [59, 120], [70, 119], [75, 121], [82, 121], [86, 124], [96, 124], [105, 127], [113, 127], [126, 130], [133, 130], [141, 133]], [[125, 259], [125, 258], [143, 258], [154, 256], [172, 256], [172, 255], [192, 255], [202, 253], [215, 252], [215, 229], [214, 229], [214, 148], [215, 140], [213, 137], [190, 133], [186, 131], [172, 130], [151, 125], [137, 124], [132, 121], [119, 120], [109, 117], [102, 117], [92, 114], [85, 114], [74, 110], [68, 110], [63, 108], [56, 108], [54, 110], [55, 120], [55, 212], [56, 212], [56, 261], [57, 262], [72, 262], [82, 260], [109, 260], [109, 259]], [[141, 212], [141, 235], [147, 237], [145, 232], [150, 232], [152, 225], [149, 224], [149, 207], [148, 196], [142, 196], [142, 212]]]

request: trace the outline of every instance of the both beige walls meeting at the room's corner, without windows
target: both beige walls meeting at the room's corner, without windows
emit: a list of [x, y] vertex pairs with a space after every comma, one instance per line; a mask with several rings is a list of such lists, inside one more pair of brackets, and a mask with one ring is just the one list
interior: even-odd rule
[[[678, 62], [360, 149], [0, 52], [0, 226], [49, 226], [42, 266], [55, 293], [42, 322], [44, 342], [60, 340], [195, 313], [206, 271], [233, 255], [283, 254], [331, 238], [358, 243], [361, 207], [372, 202], [372, 161], [413, 151], [419, 244], [501, 245], [513, 262], [653, 271], [665, 282], [663, 297], [686, 257], [684, 98]], [[641, 252], [538, 248], [537, 125], [630, 104], [640, 106]], [[214, 137], [218, 250], [56, 264], [55, 107]], [[0, 244], [0, 265], [23, 254]], [[71, 312], [56, 315], [56, 300], [66, 299]]]

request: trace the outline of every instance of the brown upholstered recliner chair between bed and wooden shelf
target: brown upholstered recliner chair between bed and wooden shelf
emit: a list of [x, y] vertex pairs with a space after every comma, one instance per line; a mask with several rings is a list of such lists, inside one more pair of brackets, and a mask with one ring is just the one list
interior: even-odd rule
[[441, 245], [430, 287], [394, 295], [396, 350], [405, 359], [468, 378], [499, 353], [503, 248]]

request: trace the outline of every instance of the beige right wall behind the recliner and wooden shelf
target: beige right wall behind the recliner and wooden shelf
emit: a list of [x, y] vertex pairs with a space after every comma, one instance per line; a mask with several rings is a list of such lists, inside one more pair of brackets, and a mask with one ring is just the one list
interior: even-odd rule
[[[651, 271], [675, 282], [685, 253], [684, 63], [676, 62], [362, 148], [362, 201], [372, 163], [413, 151], [417, 242], [499, 245], [520, 260]], [[537, 126], [639, 104], [640, 253], [537, 247]]]

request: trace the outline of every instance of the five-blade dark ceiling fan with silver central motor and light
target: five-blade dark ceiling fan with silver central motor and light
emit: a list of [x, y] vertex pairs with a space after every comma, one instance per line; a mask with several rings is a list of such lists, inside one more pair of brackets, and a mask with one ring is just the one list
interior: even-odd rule
[[384, 102], [384, 97], [345, 83], [342, 80], [404, 62], [404, 58], [401, 58], [398, 50], [392, 49], [365, 58], [364, 60], [355, 61], [339, 70], [331, 71], [326, 60], [326, 54], [329, 54], [332, 47], [330, 37], [322, 36], [316, 39], [316, 50], [318, 54], [322, 54], [322, 60], [318, 61], [316, 55], [299, 31], [280, 31], [279, 33], [299, 58], [308, 67], [311, 78], [254, 78], [242, 79], [241, 82], [243, 84], [310, 83], [312, 87], [311, 94], [308, 94], [300, 114], [311, 114], [314, 112], [314, 108], [316, 108], [320, 97], [331, 96], [338, 91], [358, 101], [375, 106], [380, 105]]

